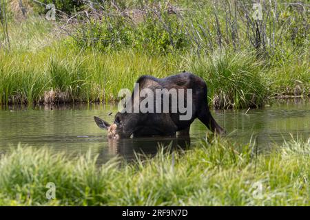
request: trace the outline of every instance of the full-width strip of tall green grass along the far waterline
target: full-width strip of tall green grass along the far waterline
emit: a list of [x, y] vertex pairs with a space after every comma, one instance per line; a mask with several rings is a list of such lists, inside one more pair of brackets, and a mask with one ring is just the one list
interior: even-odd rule
[[79, 51], [55, 43], [35, 52], [0, 52], [0, 103], [112, 102], [143, 74], [165, 77], [186, 70], [205, 79], [211, 106], [256, 107], [276, 94], [293, 95], [296, 86], [298, 95], [307, 96], [309, 65], [301, 62], [271, 66], [246, 51], [152, 56], [136, 50]]

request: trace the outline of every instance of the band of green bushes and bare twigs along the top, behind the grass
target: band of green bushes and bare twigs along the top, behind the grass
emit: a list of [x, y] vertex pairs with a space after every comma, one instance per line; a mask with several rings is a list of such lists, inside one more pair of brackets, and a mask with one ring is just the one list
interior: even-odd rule
[[219, 48], [242, 51], [251, 47], [258, 56], [266, 57], [307, 43], [307, 5], [303, 3], [265, 3], [262, 5], [265, 17], [258, 23], [246, 16], [254, 11], [245, 1], [215, 4], [176, 1], [174, 5], [169, 1], [131, 1], [127, 5], [119, 1], [117, 4], [114, 7], [107, 1], [94, 6], [95, 9], [87, 8], [89, 15], [81, 20], [89, 25], [78, 26], [78, 32], [89, 33], [76, 41], [91, 42], [87, 45], [101, 50], [110, 45], [119, 48], [115, 46], [117, 43], [163, 54], [184, 48], [210, 54]]

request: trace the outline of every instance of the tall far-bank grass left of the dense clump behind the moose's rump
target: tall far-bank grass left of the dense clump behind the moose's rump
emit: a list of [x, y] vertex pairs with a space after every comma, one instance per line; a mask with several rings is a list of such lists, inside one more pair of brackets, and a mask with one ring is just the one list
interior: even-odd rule
[[[54, 50], [55, 49], [55, 50]], [[131, 50], [100, 54], [48, 48], [39, 53], [0, 53], [0, 103], [44, 102], [45, 91], [65, 93], [70, 102], [114, 101], [142, 74], [176, 73], [176, 60]], [[63, 102], [63, 100], [59, 100]]]

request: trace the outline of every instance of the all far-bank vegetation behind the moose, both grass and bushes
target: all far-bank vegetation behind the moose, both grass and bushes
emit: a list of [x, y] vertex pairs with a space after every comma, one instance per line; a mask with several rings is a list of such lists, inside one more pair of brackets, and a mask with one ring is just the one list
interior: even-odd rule
[[263, 1], [254, 20], [247, 1], [56, 1], [64, 13], [48, 21], [21, 2], [1, 1], [0, 104], [113, 102], [142, 74], [183, 70], [215, 108], [309, 95], [305, 3]]

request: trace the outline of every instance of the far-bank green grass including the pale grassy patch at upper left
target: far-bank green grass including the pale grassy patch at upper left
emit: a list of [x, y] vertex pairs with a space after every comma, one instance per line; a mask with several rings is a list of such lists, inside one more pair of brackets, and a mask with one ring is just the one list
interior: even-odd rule
[[[198, 13], [197, 18], [201, 16]], [[297, 86], [301, 95], [309, 96], [307, 37], [298, 50], [287, 43], [269, 59], [258, 58], [246, 47], [232, 50], [231, 45], [214, 47], [213, 52], [205, 47], [205, 55], [187, 47], [167, 53], [143, 45], [97, 50], [79, 47], [53, 22], [36, 14], [21, 21], [10, 19], [10, 50], [0, 48], [0, 105], [114, 102], [120, 89], [132, 89], [143, 74], [162, 78], [183, 70], [207, 82], [208, 99], [215, 108], [260, 107], [269, 97], [294, 94]]]

